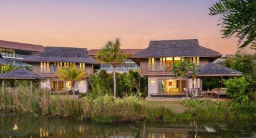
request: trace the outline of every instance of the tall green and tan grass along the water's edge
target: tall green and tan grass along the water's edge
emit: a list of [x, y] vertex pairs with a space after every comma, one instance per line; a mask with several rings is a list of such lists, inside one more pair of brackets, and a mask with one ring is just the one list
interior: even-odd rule
[[0, 110], [33, 114], [35, 116], [63, 116], [91, 119], [96, 122], [120, 121], [194, 121], [256, 118], [255, 104], [230, 104], [227, 102], [184, 101], [190, 107], [181, 114], [173, 114], [166, 107], [148, 107], [136, 96], [114, 98], [110, 95], [95, 98], [50, 95], [48, 91], [26, 86], [17, 91], [0, 92]]

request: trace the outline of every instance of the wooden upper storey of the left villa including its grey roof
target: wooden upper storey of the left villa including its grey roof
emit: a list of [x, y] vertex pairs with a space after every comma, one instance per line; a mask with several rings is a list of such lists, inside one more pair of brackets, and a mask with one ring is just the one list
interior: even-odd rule
[[72, 47], [45, 47], [40, 54], [26, 57], [23, 61], [33, 65], [33, 72], [43, 77], [56, 77], [56, 72], [65, 66], [76, 66], [90, 75], [99, 63], [88, 56], [86, 51]]

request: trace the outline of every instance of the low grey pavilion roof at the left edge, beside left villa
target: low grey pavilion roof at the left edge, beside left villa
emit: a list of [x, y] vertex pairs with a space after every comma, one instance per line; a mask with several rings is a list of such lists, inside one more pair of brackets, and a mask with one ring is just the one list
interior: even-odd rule
[[26, 68], [18, 68], [6, 73], [0, 74], [0, 79], [44, 79], [41, 75], [30, 72]]

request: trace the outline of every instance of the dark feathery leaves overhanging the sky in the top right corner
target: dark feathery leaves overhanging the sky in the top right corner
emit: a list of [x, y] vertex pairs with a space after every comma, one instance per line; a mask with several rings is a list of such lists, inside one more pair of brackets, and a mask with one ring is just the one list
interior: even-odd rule
[[[239, 49], [246, 47], [256, 38], [256, 1], [220, 0], [209, 8], [209, 15], [222, 15], [222, 36], [238, 38]], [[243, 42], [243, 44], [241, 44]]]

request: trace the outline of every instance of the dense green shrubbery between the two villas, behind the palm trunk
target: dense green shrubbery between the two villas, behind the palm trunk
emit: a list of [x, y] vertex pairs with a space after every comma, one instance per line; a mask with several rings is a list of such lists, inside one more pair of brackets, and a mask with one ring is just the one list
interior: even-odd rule
[[[113, 74], [106, 70], [100, 70], [99, 73], [89, 76], [91, 98], [97, 96], [112, 95]], [[128, 73], [116, 73], [116, 94], [119, 97], [140, 95], [147, 96], [147, 78], [140, 75], [140, 72], [129, 70]]]

